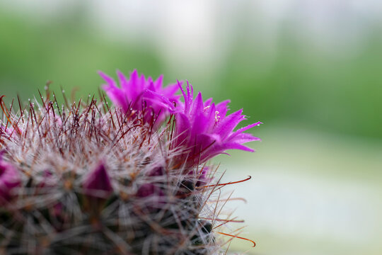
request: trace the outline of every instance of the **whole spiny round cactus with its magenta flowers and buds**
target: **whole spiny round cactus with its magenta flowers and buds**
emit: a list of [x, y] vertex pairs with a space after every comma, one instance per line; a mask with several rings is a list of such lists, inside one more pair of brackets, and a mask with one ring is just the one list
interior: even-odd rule
[[0, 254], [223, 252], [227, 183], [208, 160], [251, 151], [243, 131], [260, 123], [233, 132], [241, 111], [190, 85], [100, 74], [115, 107], [103, 94], [59, 106], [49, 89], [18, 111], [0, 101]]

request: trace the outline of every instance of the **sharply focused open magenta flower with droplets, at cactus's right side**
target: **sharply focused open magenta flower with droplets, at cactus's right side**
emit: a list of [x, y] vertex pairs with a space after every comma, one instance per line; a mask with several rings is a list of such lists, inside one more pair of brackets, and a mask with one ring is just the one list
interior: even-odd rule
[[[212, 103], [212, 98], [202, 100], [199, 92], [193, 98], [193, 89], [187, 83], [187, 94], [179, 84], [185, 103], [181, 110], [175, 114], [175, 147], [185, 147], [185, 152], [180, 156], [180, 161], [187, 162], [186, 166], [201, 164], [217, 154], [225, 153], [227, 149], [241, 149], [254, 152], [253, 149], [243, 145], [245, 142], [260, 140], [245, 130], [262, 123], [257, 122], [233, 131], [238, 123], [245, 120], [243, 110], [226, 115], [227, 104], [223, 101], [218, 104]], [[225, 153], [226, 154], [226, 153]]]

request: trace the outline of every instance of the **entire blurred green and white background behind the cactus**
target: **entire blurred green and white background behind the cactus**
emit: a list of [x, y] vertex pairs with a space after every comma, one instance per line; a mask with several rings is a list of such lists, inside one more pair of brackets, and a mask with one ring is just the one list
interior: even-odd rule
[[[230, 98], [256, 153], [219, 157], [248, 227], [232, 252], [382, 254], [382, 2], [0, 0], [0, 94], [97, 94], [97, 70]], [[232, 225], [232, 228], [242, 225]]]

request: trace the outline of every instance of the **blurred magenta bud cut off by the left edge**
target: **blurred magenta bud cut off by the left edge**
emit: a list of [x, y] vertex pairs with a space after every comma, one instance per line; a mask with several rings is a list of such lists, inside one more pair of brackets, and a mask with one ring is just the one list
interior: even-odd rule
[[0, 152], [0, 205], [10, 200], [12, 191], [21, 184], [17, 169], [4, 162], [1, 154]]

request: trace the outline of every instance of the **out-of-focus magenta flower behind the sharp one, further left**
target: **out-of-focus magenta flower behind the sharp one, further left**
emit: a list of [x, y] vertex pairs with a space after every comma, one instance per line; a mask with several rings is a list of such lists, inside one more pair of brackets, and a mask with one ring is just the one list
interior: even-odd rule
[[151, 77], [146, 79], [143, 74], [139, 77], [137, 70], [134, 70], [127, 80], [122, 72], [117, 71], [120, 81], [118, 87], [114, 79], [103, 72], [98, 73], [108, 83], [103, 85], [103, 89], [111, 101], [125, 113], [137, 111], [144, 123], [152, 123], [156, 118], [155, 124], [160, 125], [173, 110], [174, 103], [179, 103], [180, 96], [175, 95], [178, 85], [163, 88], [163, 75], [153, 81]]

